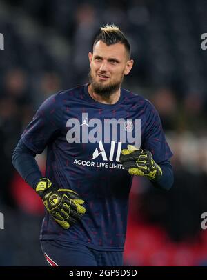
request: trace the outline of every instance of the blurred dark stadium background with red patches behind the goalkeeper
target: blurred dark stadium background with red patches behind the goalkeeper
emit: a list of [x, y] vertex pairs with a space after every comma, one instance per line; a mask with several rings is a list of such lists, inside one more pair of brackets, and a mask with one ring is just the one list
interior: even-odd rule
[[[115, 23], [132, 44], [124, 82], [159, 111], [175, 156], [169, 192], [135, 178], [127, 266], [207, 266], [206, 0], [0, 0], [0, 266], [44, 266], [41, 201], [12, 167], [14, 146], [50, 94], [85, 83], [97, 27]], [[40, 166], [45, 155], [38, 157]]]

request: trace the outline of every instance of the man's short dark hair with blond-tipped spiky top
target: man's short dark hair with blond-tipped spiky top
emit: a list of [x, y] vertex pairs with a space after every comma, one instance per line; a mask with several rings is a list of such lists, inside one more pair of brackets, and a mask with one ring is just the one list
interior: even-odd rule
[[107, 46], [115, 43], [122, 43], [126, 48], [128, 57], [130, 58], [130, 43], [119, 27], [114, 24], [106, 24], [106, 26], [101, 27], [99, 33], [95, 37], [93, 47], [100, 40], [103, 41], [103, 43], [106, 43]]

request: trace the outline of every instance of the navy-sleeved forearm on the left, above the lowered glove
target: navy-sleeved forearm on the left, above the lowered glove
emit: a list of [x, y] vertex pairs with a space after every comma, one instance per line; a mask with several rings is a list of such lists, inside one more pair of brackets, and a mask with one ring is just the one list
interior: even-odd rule
[[16, 168], [26, 183], [34, 189], [39, 179], [43, 177], [37, 165], [37, 161], [34, 159], [35, 155], [36, 154], [28, 149], [21, 140], [12, 154], [14, 168]]

